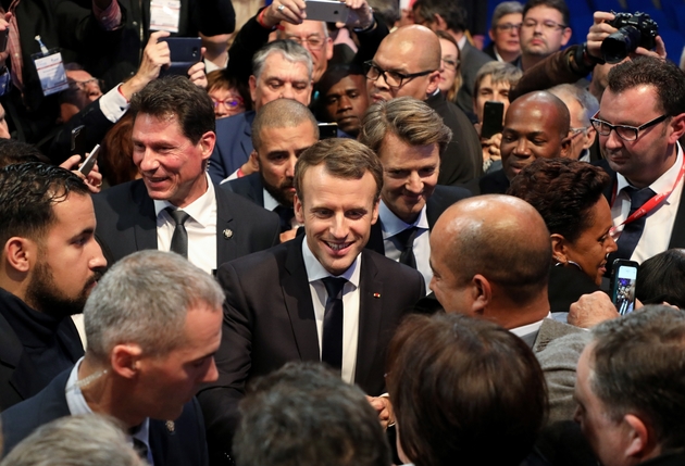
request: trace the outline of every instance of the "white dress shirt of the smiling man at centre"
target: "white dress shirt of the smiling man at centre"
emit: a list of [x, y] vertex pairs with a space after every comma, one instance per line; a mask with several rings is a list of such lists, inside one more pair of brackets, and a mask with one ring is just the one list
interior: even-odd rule
[[[307, 238], [302, 241], [302, 259], [304, 260], [304, 268], [307, 270], [307, 279], [309, 280], [309, 291], [312, 295], [312, 304], [314, 307], [314, 317], [316, 319], [316, 336], [319, 337], [319, 357], [321, 358], [321, 349], [323, 340], [323, 319], [326, 310], [326, 287], [322, 278], [333, 277], [321, 263], [314, 257], [314, 254], [307, 244]], [[361, 254], [357, 256], [352, 265], [345, 270], [339, 278], [348, 280], [342, 288], [342, 380], [348, 383], [354, 382], [354, 370], [357, 368], [357, 347], [359, 337], [359, 277], [361, 270]]]

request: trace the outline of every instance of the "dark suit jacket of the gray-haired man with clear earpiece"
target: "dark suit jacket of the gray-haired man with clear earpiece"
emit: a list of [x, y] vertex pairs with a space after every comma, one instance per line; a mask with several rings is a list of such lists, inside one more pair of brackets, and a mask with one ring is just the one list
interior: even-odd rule
[[[38, 427], [71, 416], [64, 388], [71, 369], [63, 371], [36, 396], [2, 413], [4, 454]], [[170, 431], [166, 420], [150, 419], [150, 450], [154, 466], [205, 466], [209, 464], [202, 412], [196, 399], [186, 403]]]

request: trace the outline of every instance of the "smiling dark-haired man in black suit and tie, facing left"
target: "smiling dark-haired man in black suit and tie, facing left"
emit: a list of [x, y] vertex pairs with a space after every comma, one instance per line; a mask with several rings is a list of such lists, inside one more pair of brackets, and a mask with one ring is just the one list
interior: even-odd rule
[[203, 89], [180, 76], [155, 79], [130, 111], [142, 179], [94, 198], [98, 240], [111, 263], [144, 249], [171, 250], [210, 273], [278, 242], [275, 214], [215, 188], [205, 173], [216, 136]]

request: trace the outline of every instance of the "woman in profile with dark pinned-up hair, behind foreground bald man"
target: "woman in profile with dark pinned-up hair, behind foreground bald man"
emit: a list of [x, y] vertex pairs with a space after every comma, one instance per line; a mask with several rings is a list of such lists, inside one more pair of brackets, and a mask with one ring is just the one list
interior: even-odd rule
[[533, 205], [551, 235], [552, 312], [569, 312], [582, 294], [599, 290], [607, 256], [616, 250], [603, 197], [609, 182], [601, 168], [570, 159], [538, 159], [511, 181], [508, 193]]

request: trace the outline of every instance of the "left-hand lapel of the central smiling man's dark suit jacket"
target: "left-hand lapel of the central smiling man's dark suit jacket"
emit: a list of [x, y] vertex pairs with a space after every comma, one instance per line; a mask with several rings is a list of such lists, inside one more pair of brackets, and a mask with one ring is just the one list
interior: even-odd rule
[[303, 240], [304, 237], [300, 237], [290, 241], [281, 287], [300, 360], [321, 361], [314, 306], [302, 259]]

